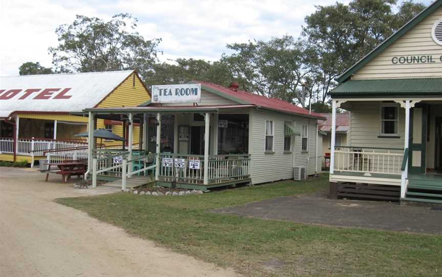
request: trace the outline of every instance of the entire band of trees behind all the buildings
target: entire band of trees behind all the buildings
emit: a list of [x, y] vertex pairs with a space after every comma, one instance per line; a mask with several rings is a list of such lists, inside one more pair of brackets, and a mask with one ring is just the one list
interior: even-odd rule
[[352, 0], [316, 6], [304, 19], [300, 37], [231, 43], [219, 60], [178, 58], [159, 62], [161, 38], [145, 39], [137, 18], [117, 14], [109, 21], [77, 15], [56, 29], [50, 47], [53, 68], [38, 62], [20, 66], [21, 74], [97, 72], [137, 69], [147, 85], [190, 80], [228, 86], [279, 98], [313, 110], [327, 110], [327, 94], [336, 77], [401, 28], [424, 4], [407, 0]]

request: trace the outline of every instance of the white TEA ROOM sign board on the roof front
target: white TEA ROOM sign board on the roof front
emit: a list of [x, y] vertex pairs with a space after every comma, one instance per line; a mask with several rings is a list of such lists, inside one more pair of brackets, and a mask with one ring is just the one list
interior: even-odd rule
[[152, 103], [200, 103], [201, 84], [153, 85]]

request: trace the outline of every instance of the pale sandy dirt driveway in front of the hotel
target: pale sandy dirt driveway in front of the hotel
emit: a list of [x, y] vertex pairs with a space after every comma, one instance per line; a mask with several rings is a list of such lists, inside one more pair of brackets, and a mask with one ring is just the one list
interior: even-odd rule
[[58, 175], [44, 179], [35, 169], [0, 167], [1, 276], [238, 275], [53, 202], [116, 190], [74, 189]]

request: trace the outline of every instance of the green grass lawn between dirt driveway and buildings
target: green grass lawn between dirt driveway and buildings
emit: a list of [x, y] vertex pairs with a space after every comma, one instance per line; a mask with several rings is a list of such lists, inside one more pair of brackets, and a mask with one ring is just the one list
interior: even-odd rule
[[[325, 190], [328, 176], [303, 182], [181, 197], [116, 193], [62, 198], [128, 233], [247, 276], [440, 276], [442, 236], [324, 227], [210, 213], [218, 207]], [[270, 265], [270, 267], [269, 267]]]

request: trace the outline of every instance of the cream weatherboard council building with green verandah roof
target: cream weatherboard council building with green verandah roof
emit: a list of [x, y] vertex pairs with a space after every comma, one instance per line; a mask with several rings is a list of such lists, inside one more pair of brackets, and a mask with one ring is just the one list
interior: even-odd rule
[[[344, 72], [333, 103], [332, 197], [442, 203], [442, 0]], [[336, 109], [351, 111], [336, 144]]]

